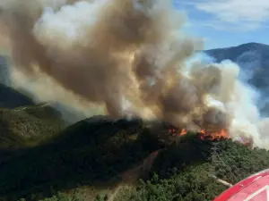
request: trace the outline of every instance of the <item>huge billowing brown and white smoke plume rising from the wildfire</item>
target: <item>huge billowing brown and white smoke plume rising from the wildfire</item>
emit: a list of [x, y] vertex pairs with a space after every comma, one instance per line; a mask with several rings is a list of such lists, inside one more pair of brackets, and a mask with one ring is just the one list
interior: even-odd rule
[[268, 146], [268, 121], [260, 120], [255, 94], [237, 80], [239, 67], [189, 63], [201, 46], [180, 32], [184, 18], [169, 1], [1, 4], [13, 77], [27, 83], [41, 77], [42, 90], [33, 87], [39, 99], [49, 96], [85, 111], [100, 105], [113, 118], [138, 115], [187, 130], [224, 128], [233, 138]]

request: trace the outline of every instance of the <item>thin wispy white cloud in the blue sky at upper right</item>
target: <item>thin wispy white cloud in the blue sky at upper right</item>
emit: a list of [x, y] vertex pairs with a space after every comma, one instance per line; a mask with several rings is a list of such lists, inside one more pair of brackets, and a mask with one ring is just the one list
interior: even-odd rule
[[269, 21], [268, 0], [196, 0], [190, 3], [195, 9], [213, 14], [211, 27], [220, 23], [238, 25], [238, 29], [257, 29]]

